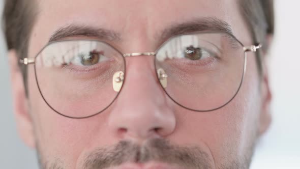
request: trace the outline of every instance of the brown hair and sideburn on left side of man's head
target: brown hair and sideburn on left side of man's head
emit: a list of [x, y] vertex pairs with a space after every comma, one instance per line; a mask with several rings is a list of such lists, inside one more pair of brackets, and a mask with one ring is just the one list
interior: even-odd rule
[[[7, 47], [16, 50], [18, 59], [27, 57], [29, 36], [36, 18], [35, 5], [35, 0], [5, 0], [2, 26]], [[26, 66], [19, 62], [19, 68], [27, 89]]]

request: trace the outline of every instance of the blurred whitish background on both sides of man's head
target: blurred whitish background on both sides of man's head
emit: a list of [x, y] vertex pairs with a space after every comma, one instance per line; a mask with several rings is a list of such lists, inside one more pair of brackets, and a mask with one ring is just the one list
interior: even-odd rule
[[[269, 54], [273, 124], [259, 142], [251, 169], [300, 168], [300, 1], [277, 0], [275, 6], [276, 36]], [[6, 45], [0, 34], [0, 168], [36, 169], [35, 152], [17, 135], [10, 90]]]

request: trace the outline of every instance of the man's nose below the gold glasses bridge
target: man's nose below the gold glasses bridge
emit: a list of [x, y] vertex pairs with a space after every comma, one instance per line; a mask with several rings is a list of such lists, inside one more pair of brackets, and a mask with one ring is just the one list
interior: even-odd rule
[[153, 57], [127, 58], [124, 86], [108, 117], [108, 126], [121, 139], [140, 142], [166, 137], [175, 128], [175, 115], [154, 70]]

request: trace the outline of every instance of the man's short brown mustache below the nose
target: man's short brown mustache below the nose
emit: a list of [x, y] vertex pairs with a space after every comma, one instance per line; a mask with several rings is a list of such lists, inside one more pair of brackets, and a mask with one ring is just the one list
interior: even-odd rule
[[127, 162], [150, 161], [184, 168], [212, 168], [208, 154], [199, 147], [179, 147], [161, 138], [149, 139], [142, 145], [123, 140], [114, 146], [96, 149], [86, 155], [83, 168], [104, 169]]

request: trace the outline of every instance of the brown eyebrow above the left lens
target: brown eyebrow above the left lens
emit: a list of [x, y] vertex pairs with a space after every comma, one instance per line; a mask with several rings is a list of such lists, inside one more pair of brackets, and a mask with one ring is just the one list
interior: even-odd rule
[[76, 37], [76, 36], [98, 38], [107, 41], [117, 41], [121, 39], [120, 34], [114, 31], [110, 31], [102, 28], [95, 28], [86, 25], [70, 24], [56, 30], [50, 36], [49, 42], [53, 42], [53, 41], [57, 41], [69, 37]]

